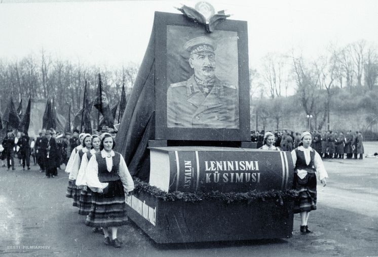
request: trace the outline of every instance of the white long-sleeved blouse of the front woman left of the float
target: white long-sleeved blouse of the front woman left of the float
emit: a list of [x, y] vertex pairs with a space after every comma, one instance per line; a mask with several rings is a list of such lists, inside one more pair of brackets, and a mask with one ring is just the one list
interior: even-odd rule
[[[105, 158], [106, 161], [106, 169], [108, 172], [111, 172], [111, 168], [113, 165], [113, 156], [115, 155], [114, 151], [107, 153], [105, 150], [101, 151], [101, 157]], [[121, 155], [118, 175], [122, 181], [124, 190], [126, 193], [134, 190], [134, 181], [131, 178], [129, 173], [129, 169], [127, 168], [126, 162]], [[102, 190], [107, 187], [109, 183], [101, 183], [98, 179], [98, 163], [96, 160], [96, 155], [92, 155], [91, 159], [88, 162], [87, 169], [86, 169], [86, 182], [88, 187], [93, 192], [102, 193]]]

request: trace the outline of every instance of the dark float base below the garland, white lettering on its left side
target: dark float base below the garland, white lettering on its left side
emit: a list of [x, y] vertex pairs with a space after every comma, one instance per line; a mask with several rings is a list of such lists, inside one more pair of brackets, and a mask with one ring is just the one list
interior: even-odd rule
[[293, 202], [225, 203], [164, 201], [139, 192], [126, 197], [129, 219], [156, 243], [188, 243], [289, 238]]

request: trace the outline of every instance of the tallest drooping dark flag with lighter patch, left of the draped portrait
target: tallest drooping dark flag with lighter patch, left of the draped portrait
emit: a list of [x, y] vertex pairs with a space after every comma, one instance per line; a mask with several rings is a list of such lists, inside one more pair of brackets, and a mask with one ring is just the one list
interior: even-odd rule
[[[114, 117], [111, 113], [111, 109], [109, 106], [109, 101], [106, 97], [106, 93], [102, 90], [102, 81], [101, 75], [98, 73], [98, 96], [95, 100], [94, 107], [98, 110], [98, 124], [100, 124], [100, 113], [103, 117], [104, 125], [108, 127], [113, 127], [114, 125]], [[100, 97], [101, 96], [101, 97]], [[99, 128], [101, 126], [99, 125]]]

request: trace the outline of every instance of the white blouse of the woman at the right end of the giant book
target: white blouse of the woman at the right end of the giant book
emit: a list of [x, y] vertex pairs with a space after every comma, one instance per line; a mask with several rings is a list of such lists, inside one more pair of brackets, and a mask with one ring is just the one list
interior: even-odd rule
[[[322, 179], [328, 178], [328, 174], [325, 170], [322, 158], [320, 157], [320, 155], [318, 154], [317, 151], [312, 149], [310, 146], [308, 148], [305, 148], [303, 146], [299, 146], [298, 150], [304, 152], [307, 165], [309, 165], [310, 161], [311, 161], [310, 152], [314, 151], [315, 152], [314, 167], [316, 169], [316, 172], [319, 174], [319, 179], [322, 180]], [[294, 164], [294, 167], [295, 167], [295, 163], [296, 163], [296, 160], [297, 160], [295, 149], [291, 151], [291, 157], [293, 159], [293, 164]], [[298, 173], [298, 177], [301, 178], [301, 179], [305, 178], [306, 175], [307, 175], [307, 171], [304, 170], [304, 169], [297, 169], [297, 173]]]

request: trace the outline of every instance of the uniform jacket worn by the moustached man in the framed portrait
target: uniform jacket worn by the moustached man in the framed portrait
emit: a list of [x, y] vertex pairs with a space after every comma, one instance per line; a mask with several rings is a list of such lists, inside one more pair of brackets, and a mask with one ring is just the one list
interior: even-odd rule
[[207, 96], [192, 75], [173, 83], [167, 92], [168, 127], [239, 128], [238, 91], [215, 78]]

